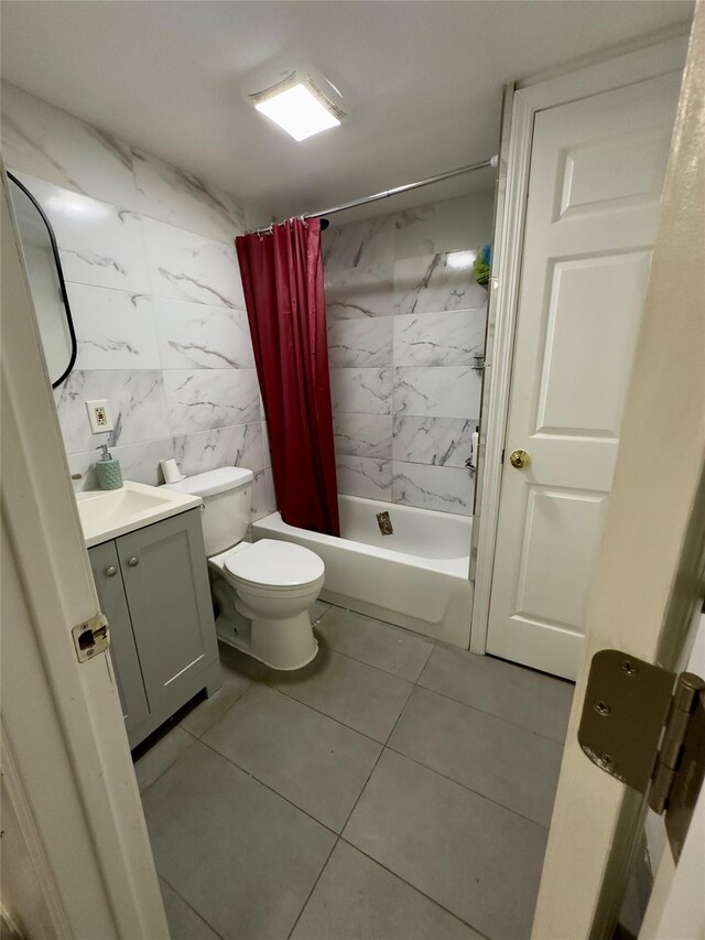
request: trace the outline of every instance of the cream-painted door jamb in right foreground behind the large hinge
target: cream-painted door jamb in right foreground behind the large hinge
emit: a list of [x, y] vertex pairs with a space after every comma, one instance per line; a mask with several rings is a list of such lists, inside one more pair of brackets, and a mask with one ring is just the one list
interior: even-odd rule
[[[535, 940], [612, 936], [641, 826], [643, 797], [593, 764], [577, 741], [593, 657], [614, 648], [675, 671], [685, 662], [703, 607], [704, 86], [705, 4], [699, 3], [590, 590], [583, 662], [534, 916]], [[659, 872], [648, 911], [651, 926], [644, 921], [641, 940], [703, 937], [703, 800], [701, 793], [699, 815], [691, 825], [675, 879], [672, 866], [663, 876]], [[687, 909], [683, 889], [697, 892]], [[677, 920], [675, 906], [682, 915]]]

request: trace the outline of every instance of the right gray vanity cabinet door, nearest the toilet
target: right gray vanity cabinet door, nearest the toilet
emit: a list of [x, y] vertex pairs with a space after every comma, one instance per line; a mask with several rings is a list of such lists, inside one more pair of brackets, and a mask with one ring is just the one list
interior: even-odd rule
[[121, 536], [116, 545], [152, 712], [171, 714], [218, 658], [200, 511]]

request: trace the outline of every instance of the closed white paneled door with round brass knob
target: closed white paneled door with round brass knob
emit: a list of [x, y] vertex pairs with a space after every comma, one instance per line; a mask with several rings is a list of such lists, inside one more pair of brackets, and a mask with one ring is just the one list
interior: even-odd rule
[[[680, 78], [535, 118], [487, 651], [568, 679], [583, 646]], [[510, 461], [518, 450], [529, 455], [523, 468]]]

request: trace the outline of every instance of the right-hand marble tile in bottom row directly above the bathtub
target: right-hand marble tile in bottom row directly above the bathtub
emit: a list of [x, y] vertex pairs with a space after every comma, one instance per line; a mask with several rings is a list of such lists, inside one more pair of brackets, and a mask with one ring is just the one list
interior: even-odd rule
[[470, 516], [473, 478], [467, 469], [406, 464], [392, 465], [392, 499], [422, 509]]

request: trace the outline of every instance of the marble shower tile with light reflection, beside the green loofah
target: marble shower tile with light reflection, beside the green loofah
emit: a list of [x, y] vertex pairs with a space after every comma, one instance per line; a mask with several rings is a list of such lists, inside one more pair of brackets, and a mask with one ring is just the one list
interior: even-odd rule
[[454, 268], [448, 253], [403, 258], [394, 264], [394, 313], [470, 310], [487, 302], [487, 292], [469, 268]]

